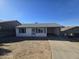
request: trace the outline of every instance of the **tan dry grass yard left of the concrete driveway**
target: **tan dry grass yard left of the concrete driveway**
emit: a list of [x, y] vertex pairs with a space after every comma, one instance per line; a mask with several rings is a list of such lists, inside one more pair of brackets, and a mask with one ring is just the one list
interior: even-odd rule
[[8, 43], [2, 46], [12, 52], [0, 56], [0, 59], [51, 59], [51, 50], [48, 41], [22, 41]]

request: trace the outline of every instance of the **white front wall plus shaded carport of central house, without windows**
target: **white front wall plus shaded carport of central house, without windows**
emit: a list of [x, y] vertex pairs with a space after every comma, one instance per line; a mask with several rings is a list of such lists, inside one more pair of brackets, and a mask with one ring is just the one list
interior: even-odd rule
[[[23, 28], [23, 27], [21, 27]], [[40, 28], [40, 27], [38, 27]], [[26, 33], [19, 33], [19, 28], [16, 27], [16, 36], [17, 37], [47, 37], [48, 34], [54, 34], [56, 36], [60, 35], [60, 27], [44, 27], [46, 29], [46, 33], [35, 33], [34, 35], [32, 34], [32, 27], [26, 27]], [[52, 35], [52, 36], [54, 36]]]

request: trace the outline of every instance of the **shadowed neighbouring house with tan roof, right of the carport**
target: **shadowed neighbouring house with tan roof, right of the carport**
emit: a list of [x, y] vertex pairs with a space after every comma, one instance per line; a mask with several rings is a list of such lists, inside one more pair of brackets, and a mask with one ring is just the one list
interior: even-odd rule
[[61, 28], [61, 35], [79, 37], [79, 26], [68, 26]]

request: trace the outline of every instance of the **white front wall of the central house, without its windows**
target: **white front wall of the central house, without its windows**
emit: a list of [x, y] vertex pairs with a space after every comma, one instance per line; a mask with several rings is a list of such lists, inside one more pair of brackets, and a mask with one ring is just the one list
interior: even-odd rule
[[46, 33], [35, 33], [35, 35], [32, 34], [32, 28], [26, 28], [26, 33], [19, 33], [19, 29], [16, 28], [16, 36], [18, 37], [46, 37], [47, 36], [47, 29]]

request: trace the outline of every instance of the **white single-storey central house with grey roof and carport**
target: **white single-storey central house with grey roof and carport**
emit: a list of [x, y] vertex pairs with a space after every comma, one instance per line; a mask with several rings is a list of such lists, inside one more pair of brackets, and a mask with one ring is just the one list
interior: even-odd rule
[[56, 23], [23, 24], [16, 27], [19, 37], [46, 37], [60, 35], [61, 25]]

